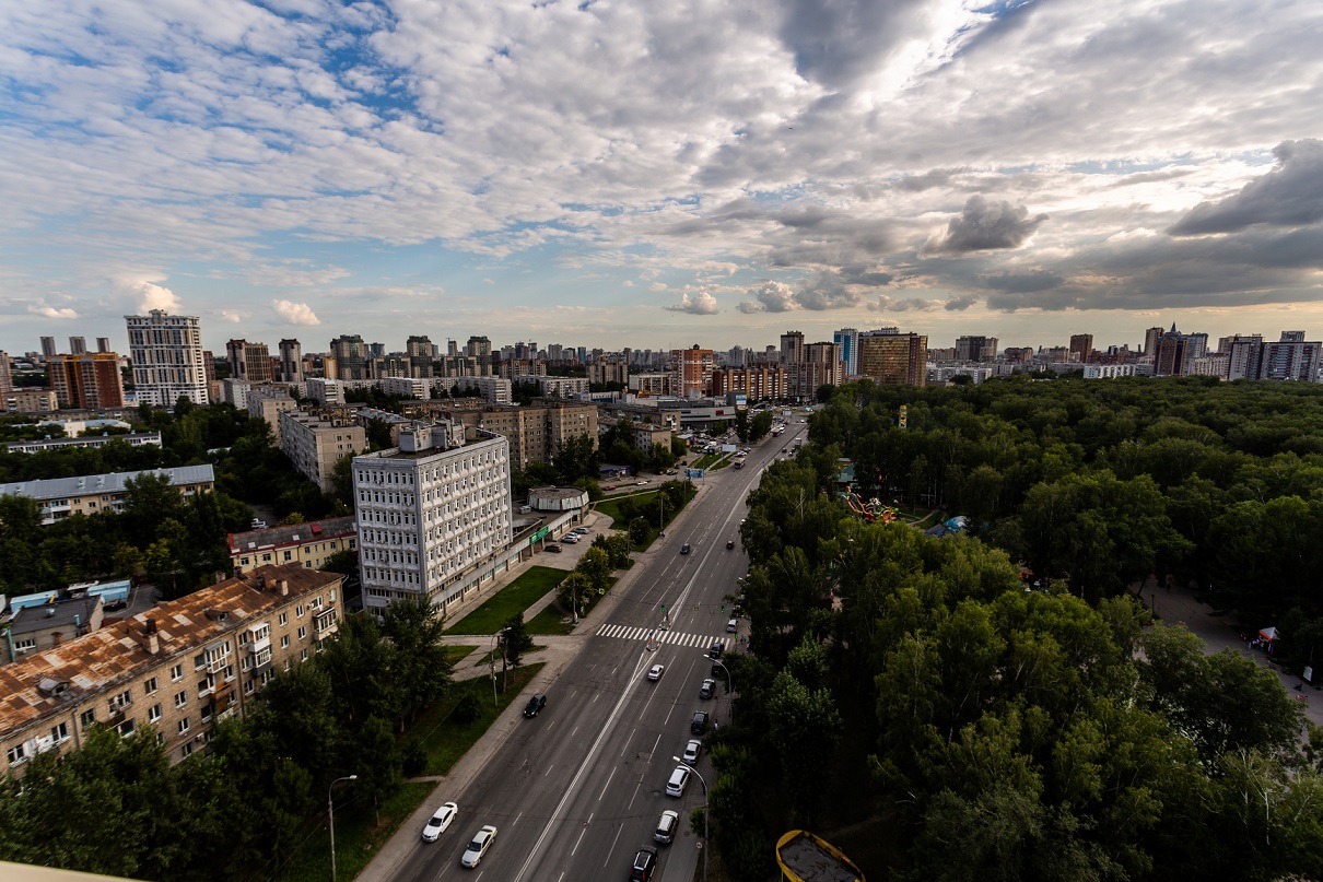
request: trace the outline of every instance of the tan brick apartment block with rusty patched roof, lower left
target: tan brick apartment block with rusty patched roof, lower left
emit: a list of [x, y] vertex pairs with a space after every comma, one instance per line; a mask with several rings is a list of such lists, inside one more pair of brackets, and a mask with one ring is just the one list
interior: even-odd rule
[[270, 566], [225, 579], [0, 668], [9, 774], [77, 750], [93, 726], [155, 731], [171, 762], [205, 748], [277, 669], [339, 628], [343, 575]]

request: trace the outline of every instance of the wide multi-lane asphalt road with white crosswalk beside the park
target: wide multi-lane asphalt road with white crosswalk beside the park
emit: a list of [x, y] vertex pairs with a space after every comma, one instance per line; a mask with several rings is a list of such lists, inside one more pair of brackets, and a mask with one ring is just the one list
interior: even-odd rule
[[[659, 854], [652, 878], [693, 878], [703, 830], [689, 829], [689, 811], [703, 805], [704, 788], [695, 775], [683, 797], [667, 796], [677, 766], [671, 758], [684, 750], [695, 710], [709, 711], [713, 722], [729, 719], [724, 689], [712, 701], [699, 698], [712, 668], [705, 653], [713, 640], [724, 640], [728, 652], [736, 643], [726, 633], [730, 607], [722, 598], [747, 571], [738, 533], [745, 497], [762, 468], [806, 436], [800, 419], [796, 414], [779, 438], [755, 447], [745, 468], [708, 472], [708, 489], [658, 540], [658, 553], [635, 565], [646, 569], [546, 689], [546, 709], [520, 721], [463, 792], [439, 800], [459, 804], [455, 821], [437, 842], [418, 841], [396, 879], [627, 879], [643, 846]], [[728, 540], [734, 550], [726, 550]], [[684, 542], [689, 554], [680, 554]], [[659, 627], [663, 606], [665, 629]], [[665, 665], [658, 682], [646, 678], [654, 664]], [[697, 772], [714, 783], [705, 754]], [[680, 812], [680, 832], [672, 845], [662, 845], [652, 832], [668, 808]], [[497, 828], [495, 842], [476, 869], [464, 869], [459, 858], [484, 824]]]

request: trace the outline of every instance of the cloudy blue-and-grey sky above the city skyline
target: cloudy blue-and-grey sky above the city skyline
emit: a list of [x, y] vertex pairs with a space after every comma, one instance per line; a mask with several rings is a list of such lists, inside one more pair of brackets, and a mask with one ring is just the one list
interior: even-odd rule
[[0, 4], [0, 348], [1323, 337], [1316, 0]]

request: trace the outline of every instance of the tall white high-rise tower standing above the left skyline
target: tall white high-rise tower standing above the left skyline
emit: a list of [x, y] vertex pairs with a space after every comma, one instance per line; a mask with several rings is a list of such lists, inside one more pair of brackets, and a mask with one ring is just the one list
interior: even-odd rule
[[197, 316], [152, 309], [146, 316], [124, 316], [124, 321], [138, 403], [173, 407], [180, 398], [194, 405], [209, 403]]

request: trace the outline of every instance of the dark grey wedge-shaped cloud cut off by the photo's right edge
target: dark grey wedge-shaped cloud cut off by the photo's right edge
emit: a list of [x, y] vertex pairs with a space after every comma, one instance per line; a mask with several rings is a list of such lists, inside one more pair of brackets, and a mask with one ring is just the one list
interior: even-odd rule
[[1323, 220], [1323, 141], [1282, 141], [1277, 167], [1240, 193], [1201, 202], [1168, 230], [1172, 235], [1234, 233], [1256, 223], [1307, 226]]

